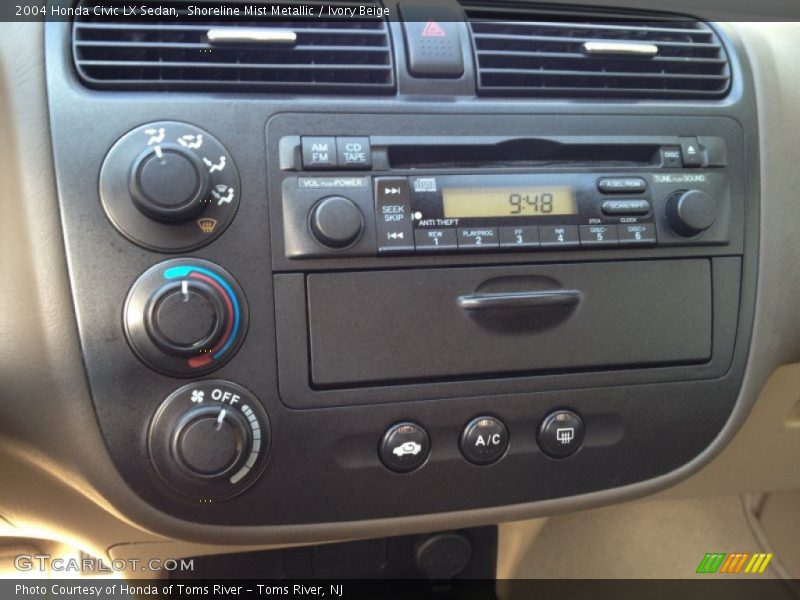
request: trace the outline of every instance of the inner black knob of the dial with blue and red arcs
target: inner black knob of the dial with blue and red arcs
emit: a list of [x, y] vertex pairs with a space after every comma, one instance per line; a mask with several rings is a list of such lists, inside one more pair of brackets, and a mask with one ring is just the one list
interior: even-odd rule
[[151, 297], [145, 327], [153, 342], [172, 356], [192, 356], [219, 341], [226, 323], [223, 299], [210, 285], [181, 279]]

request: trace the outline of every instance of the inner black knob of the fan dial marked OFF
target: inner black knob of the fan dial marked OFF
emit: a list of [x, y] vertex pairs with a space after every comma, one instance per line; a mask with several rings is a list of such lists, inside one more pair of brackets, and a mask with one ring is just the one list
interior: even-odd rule
[[223, 478], [250, 453], [252, 434], [241, 411], [199, 406], [187, 412], [172, 433], [175, 461], [194, 479]]

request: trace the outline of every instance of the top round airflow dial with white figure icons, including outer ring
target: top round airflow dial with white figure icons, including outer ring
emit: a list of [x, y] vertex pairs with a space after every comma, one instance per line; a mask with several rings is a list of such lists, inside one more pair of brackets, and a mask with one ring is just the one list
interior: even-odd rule
[[100, 170], [100, 199], [111, 223], [159, 252], [186, 252], [216, 239], [233, 221], [240, 196], [228, 149], [208, 131], [179, 121], [132, 129]]

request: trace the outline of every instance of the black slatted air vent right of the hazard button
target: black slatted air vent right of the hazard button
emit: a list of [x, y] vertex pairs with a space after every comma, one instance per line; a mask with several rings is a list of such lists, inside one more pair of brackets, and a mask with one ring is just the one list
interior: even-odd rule
[[464, 3], [479, 95], [711, 99], [730, 87], [705, 23], [489, 5]]

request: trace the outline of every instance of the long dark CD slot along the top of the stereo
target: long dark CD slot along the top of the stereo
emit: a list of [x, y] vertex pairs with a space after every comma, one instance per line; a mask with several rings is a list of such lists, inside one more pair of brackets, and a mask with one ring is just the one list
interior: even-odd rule
[[660, 164], [659, 150], [655, 144], [573, 144], [539, 138], [386, 147], [392, 169], [652, 167]]

